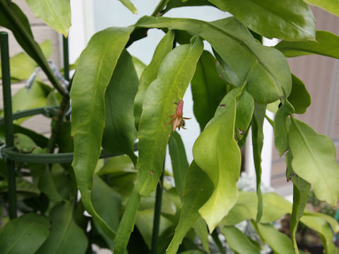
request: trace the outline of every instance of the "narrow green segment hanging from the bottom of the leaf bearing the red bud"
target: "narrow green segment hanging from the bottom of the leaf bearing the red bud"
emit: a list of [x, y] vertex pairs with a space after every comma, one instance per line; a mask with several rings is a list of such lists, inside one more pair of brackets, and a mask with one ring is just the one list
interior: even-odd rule
[[126, 209], [119, 223], [117, 229], [117, 236], [114, 238], [114, 253], [124, 254], [127, 243], [129, 243], [129, 237], [134, 228], [136, 222], [136, 214], [140, 204], [141, 195], [138, 194], [136, 188], [133, 188], [129, 201], [127, 202]]

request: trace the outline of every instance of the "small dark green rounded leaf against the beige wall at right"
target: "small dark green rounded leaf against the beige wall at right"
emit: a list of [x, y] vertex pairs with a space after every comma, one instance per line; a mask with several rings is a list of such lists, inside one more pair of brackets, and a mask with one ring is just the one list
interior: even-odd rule
[[304, 114], [311, 105], [311, 96], [307, 91], [302, 80], [299, 80], [297, 76], [292, 74], [292, 90], [288, 97], [288, 101], [291, 102], [295, 108], [296, 114]]

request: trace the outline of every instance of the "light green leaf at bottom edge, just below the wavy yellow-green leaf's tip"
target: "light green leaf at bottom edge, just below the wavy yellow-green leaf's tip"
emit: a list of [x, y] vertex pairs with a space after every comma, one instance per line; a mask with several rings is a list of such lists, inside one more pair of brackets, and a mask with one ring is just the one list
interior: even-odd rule
[[236, 253], [260, 253], [258, 247], [249, 240], [249, 236], [246, 236], [235, 226], [222, 226], [220, 231], [225, 236], [227, 244]]

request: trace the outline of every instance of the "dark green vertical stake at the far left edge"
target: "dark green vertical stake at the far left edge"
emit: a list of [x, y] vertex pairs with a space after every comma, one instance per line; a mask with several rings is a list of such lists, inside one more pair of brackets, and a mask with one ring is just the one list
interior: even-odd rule
[[[12, 99], [11, 99], [11, 72], [9, 68], [8, 53], [8, 34], [0, 32], [1, 47], [1, 71], [2, 87], [4, 97], [4, 121], [5, 121], [5, 138], [6, 147], [14, 146], [13, 139], [13, 120], [12, 120]], [[8, 171], [8, 214], [10, 219], [16, 218], [16, 171], [15, 163], [7, 159]]]

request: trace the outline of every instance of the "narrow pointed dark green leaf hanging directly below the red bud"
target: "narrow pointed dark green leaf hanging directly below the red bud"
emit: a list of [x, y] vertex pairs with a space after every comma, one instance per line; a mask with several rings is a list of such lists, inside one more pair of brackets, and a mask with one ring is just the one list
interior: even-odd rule
[[187, 162], [184, 143], [182, 143], [182, 138], [177, 131], [174, 131], [169, 137], [168, 148], [171, 156], [175, 188], [180, 198], [182, 198], [189, 162]]

